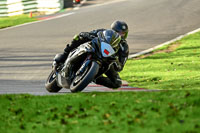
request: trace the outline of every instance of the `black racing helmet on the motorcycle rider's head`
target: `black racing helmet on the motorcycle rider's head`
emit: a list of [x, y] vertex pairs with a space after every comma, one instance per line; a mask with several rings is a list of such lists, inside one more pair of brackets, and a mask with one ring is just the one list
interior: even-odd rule
[[119, 33], [123, 39], [128, 36], [128, 25], [124, 21], [114, 21], [111, 24], [111, 29]]

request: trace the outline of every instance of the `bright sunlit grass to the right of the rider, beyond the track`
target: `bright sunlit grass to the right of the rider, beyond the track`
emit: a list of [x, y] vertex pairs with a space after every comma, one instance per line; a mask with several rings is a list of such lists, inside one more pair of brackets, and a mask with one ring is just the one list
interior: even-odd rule
[[128, 60], [122, 79], [147, 89], [200, 89], [200, 33], [176, 43], [181, 45], [173, 52]]

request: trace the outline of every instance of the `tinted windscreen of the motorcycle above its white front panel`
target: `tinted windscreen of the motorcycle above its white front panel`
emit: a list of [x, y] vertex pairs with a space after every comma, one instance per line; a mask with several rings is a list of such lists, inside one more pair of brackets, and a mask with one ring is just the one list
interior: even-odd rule
[[119, 42], [121, 36], [114, 30], [104, 30], [98, 33], [100, 42], [106, 42], [110, 44], [116, 51], [119, 49]]

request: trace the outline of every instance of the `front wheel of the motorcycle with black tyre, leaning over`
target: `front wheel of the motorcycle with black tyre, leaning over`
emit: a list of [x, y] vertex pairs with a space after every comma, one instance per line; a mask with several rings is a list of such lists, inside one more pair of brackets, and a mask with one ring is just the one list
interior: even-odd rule
[[70, 85], [71, 92], [82, 91], [95, 78], [98, 71], [99, 64], [97, 64], [95, 61], [92, 61], [83, 73], [75, 76]]

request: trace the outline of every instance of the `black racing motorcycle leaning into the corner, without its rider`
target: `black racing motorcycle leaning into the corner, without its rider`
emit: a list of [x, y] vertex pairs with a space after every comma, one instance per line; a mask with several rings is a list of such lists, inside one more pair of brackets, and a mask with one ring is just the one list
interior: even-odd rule
[[118, 61], [116, 53], [121, 40], [118, 33], [105, 30], [92, 38], [71, 51], [65, 63], [56, 70], [53, 66], [45, 83], [47, 91], [58, 92], [67, 88], [71, 92], [80, 92]]

